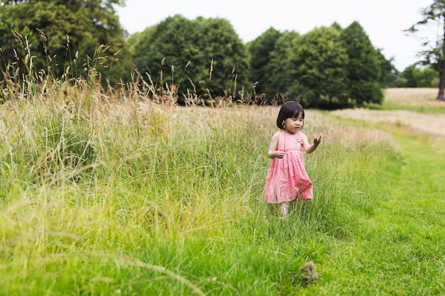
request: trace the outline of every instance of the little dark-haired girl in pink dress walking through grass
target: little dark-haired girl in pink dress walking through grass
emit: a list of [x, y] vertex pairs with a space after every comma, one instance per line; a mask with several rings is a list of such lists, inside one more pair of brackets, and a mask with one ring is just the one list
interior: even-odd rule
[[304, 167], [303, 151], [312, 153], [321, 142], [321, 133], [309, 144], [301, 133], [304, 126], [304, 109], [295, 101], [285, 102], [279, 109], [277, 126], [267, 156], [272, 163], [267, 170], [264, 197], [267, 202], [279, 204], [283, 216], [287, 215], [289, 202], [297, 197], [312, 199], [312, 182]]

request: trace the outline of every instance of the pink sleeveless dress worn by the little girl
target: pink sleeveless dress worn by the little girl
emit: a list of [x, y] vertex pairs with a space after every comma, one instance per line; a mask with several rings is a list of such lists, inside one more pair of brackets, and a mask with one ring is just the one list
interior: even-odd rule
[[312, 199], [312, 182], [304, 167], [301, 132], [293, 135], [279, 131], [277, 150], [284, 150], [283, 158], [274, 158], [267, 170], [264, 197], [269, 203]]

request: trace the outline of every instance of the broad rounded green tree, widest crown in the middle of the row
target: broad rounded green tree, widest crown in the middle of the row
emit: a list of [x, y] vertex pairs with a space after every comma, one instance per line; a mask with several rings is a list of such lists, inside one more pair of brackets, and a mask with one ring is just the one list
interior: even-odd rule
[[129, 48], [136, 67], [146, 71], [159, 90], [175, 85], [179, 102], [188, 93], [235, 99], [249, 85], [245, 45], [222, 18], [169, 17], [129, 38]]

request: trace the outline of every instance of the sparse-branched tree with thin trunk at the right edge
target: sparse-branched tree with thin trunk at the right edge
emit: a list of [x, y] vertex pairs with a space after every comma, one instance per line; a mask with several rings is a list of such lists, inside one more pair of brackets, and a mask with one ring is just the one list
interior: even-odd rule
[[422, 20], [406, 31], [419, 33], [421, 26], [428, 26], [431, 23], [436, 23], [438, 25], [436, 27], [442, 28], [442, 31], [438, 33], [436, 40], [422, 40], [424, 49], [419, 53], [423, 57], [420, 62], [439, 72], [439, 93], [436, 100], [445, 101], [445, 0], [434, 0], [430, 6], [422, 9]]

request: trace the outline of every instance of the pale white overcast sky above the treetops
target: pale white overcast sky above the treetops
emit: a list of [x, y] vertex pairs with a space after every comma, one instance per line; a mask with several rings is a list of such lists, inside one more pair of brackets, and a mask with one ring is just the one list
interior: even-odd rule
[[287, 30], [304, 34], [316, 27], [331, 26], [335, 21], [342, 28], [346, 28], [353, 21], [358, 21], [372, 45], [382, 49], [387, 59], [394, 57], [395, 67], [403, 71], [405, 67], [419, 60], [416, 55], [422, 49], [419, 38], [415, 35], [406, 35], [403, 30], [420, 21], [421, 9], [430, 6], [433, 0], [126, 0], [125, 2], [126, 6], [116, 9], [120, 23], [130, 34], [144, 31], [145, 28], [155, 26], [168, 16], [176, 14], [181, 14], [189, 20], [194, 20], [198, 16], [225, 18], [230, 21], [244, 43], [254, 40], [271, 27], [281, 32]]

